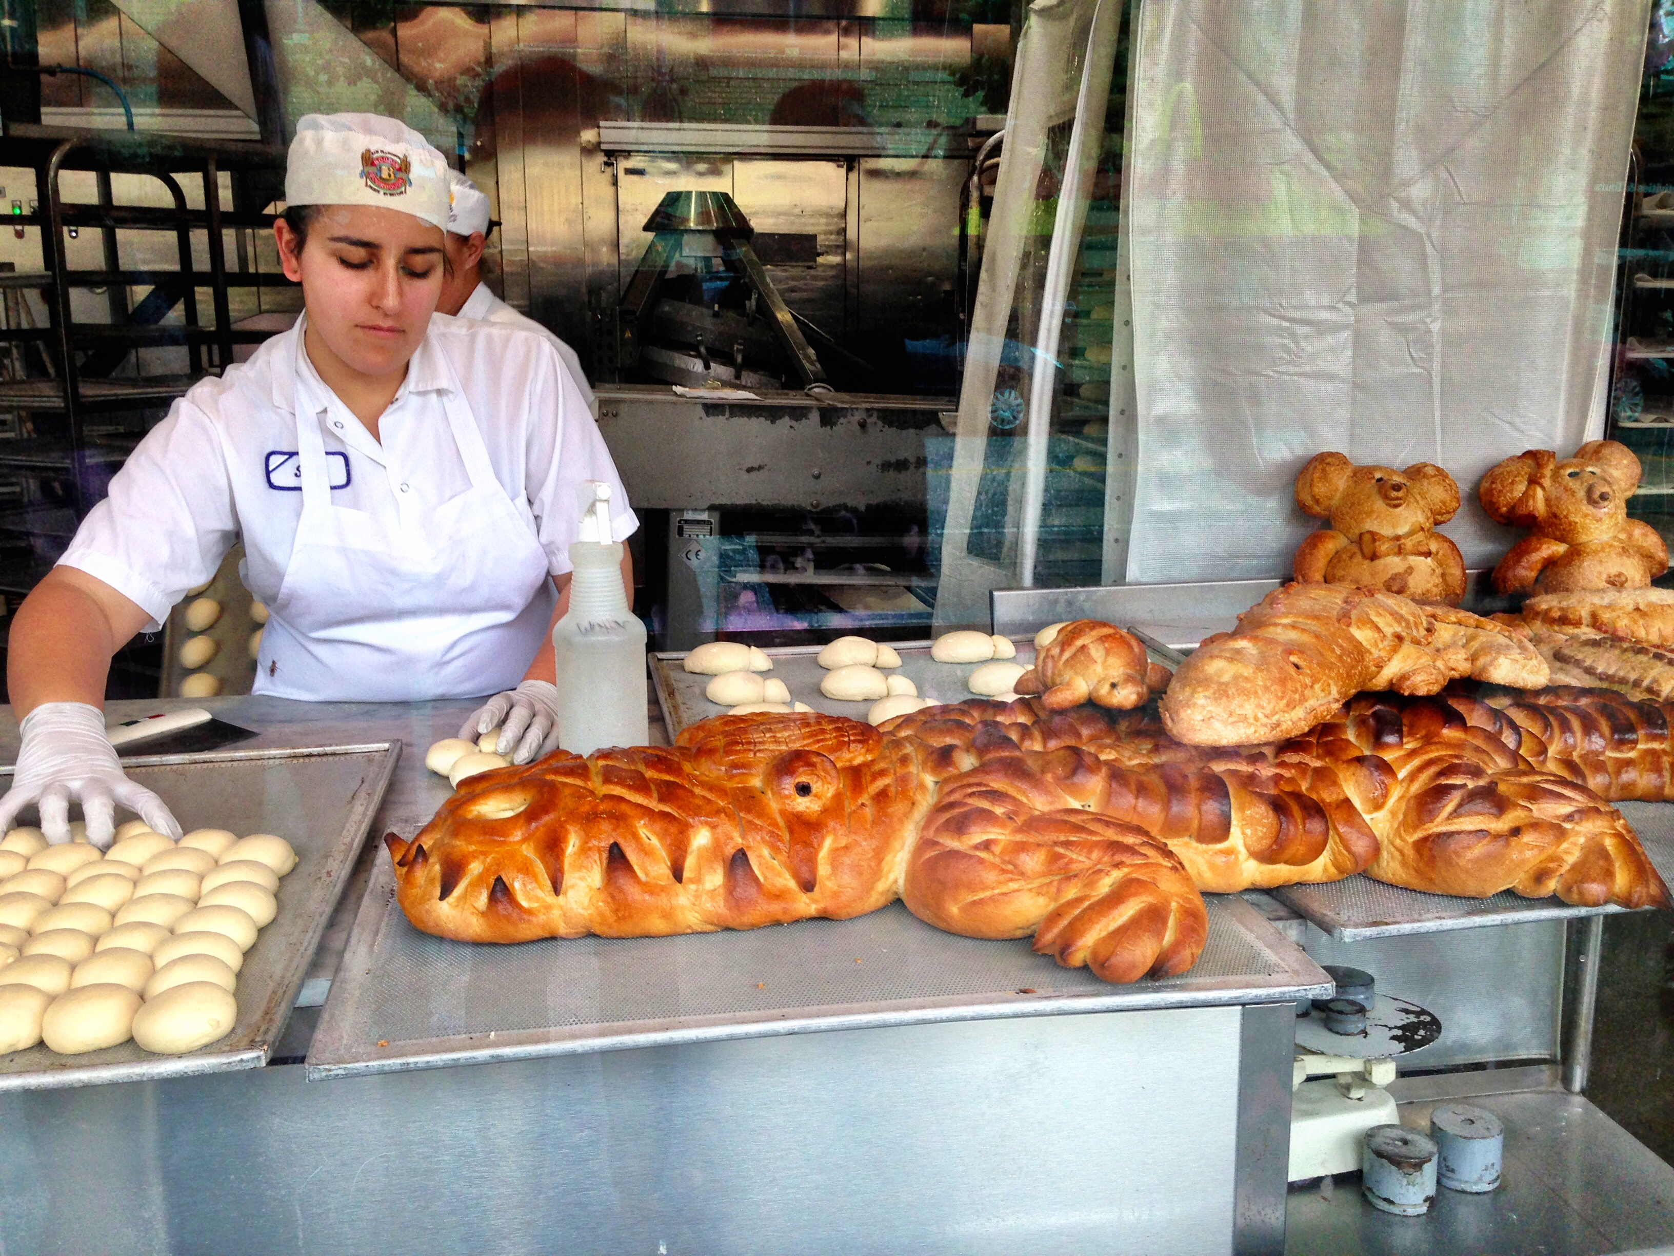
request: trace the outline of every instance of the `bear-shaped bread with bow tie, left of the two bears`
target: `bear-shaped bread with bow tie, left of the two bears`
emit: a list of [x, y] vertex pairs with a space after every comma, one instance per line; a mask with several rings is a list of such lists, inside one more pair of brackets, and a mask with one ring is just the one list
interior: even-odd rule
[[1436, 533], [1460, 507], [1460, 486], [1441, 467], [1356, 467], [1343, 454], [1316, 454], [1296, 477], [1296, 504], [1331, 521], [1296, 551], [1297, 579], [1450, 606], [1465, 596], [1465, 559]]

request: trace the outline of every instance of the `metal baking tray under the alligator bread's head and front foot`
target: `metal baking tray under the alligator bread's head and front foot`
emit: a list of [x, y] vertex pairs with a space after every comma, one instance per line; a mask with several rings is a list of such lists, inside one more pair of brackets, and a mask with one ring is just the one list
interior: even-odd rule
[[847, 921], [516, 946], [420, 933], [390, 861], [367, 886], [308, 1048], [310, 1080], [542, 1055], [951, 1020], [1319, 998], [1324, 971], [1247, 903], [1209, 899], [1192, 971], [1108, 985], [1028, 941], [942, 933], [892, 904]]

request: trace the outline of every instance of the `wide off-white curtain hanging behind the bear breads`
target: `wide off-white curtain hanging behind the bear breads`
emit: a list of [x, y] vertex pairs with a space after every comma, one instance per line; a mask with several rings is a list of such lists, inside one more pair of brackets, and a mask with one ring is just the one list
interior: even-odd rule
[[1644, 0], [1143, 3], [1130, 581], [1287, 573], [1324, 449], [1446, 467], [1446, 533], [1498, 559], [1481, 474], [1602, 435], [1646, 28]]

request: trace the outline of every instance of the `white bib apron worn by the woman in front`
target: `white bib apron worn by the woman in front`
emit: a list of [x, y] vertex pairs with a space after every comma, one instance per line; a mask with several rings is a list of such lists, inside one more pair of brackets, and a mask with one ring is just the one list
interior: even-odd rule
[[254, 693], [424, 702], [522, 680], [557, 595], [529, 502], [514, 502], [496, 479], [459, 375], [442, 362], [452, 390], [440, 400], [470, 489], [395, 533], [331, 502], [315, 385], [291, 363], [303, 512], [261, 635]]

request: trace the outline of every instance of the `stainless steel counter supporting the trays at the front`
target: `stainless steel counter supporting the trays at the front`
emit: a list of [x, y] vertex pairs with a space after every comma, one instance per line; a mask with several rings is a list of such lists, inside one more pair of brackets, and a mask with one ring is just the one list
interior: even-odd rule
[[[112, 715], [159, 705], [179, 703]], [[206, 705], [259, 728], [251, 749], [405, 742], [373, 834], [447, 797], [422, 752], [470, 708]], [[0, 757], [15, 744], [7, 713]], [[313, 998], [363, 898], [340, 899]], [[1242, 1006], [1247, 985], [1215, 1006], [18, 1094], [0, 1105], [0, 1249], [1276, 1256], [1294, 1017]]]

